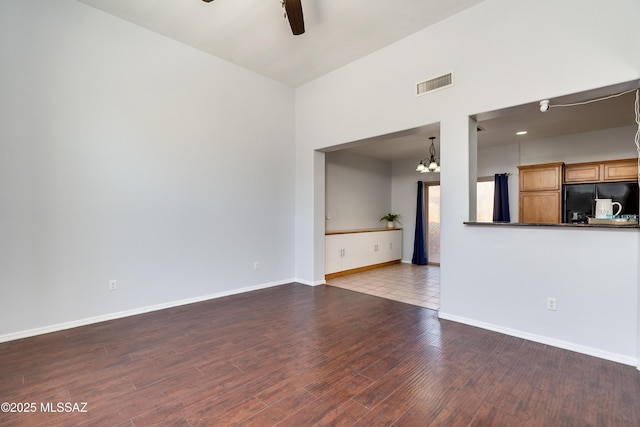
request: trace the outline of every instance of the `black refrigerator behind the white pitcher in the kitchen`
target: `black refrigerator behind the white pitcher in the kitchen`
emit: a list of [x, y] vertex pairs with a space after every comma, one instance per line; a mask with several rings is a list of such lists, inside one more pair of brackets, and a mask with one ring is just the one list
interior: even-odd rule
[[622, 205], [620, 215], [638, 215], [638, 183], [603, 182], [599, 184], [565, 184], [562, 222], [587, 222], [595, 217], [596, 199], [613, 199]]

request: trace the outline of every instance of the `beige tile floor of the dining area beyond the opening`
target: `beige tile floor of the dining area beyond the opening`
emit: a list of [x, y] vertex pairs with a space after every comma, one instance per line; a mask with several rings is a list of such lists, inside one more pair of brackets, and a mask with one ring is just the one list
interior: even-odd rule
[[394, 264], [327, 280], [327, 285], [438, 310], [440, 267]]

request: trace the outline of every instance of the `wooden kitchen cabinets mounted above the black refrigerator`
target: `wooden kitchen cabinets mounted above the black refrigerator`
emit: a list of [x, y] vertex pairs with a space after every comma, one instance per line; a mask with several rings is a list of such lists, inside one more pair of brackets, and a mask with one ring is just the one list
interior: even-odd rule
[[638, 160], [623, 159], [565, 165], [564, 183], [637, 181]]

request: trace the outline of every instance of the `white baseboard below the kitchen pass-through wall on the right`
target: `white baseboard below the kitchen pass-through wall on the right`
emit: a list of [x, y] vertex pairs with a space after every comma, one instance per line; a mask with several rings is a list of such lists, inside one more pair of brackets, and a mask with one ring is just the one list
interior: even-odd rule
[[451, 320], [458, 323], [464, 323], [469, 326], [476, 326], [478, 328], [487, 329], [489, 331], [500, 332], [501, 334], [510, 335], [513, 337], [523, 338], [525, 340], [538, 342], [541, 344], [547, 344], [552, 347], [558, 347], [565, 350], [575, 351], [576, 353], [582, 353], [589, 356], [598, 357], [600, 359], [611, 360], [612, 362], [622, 363], [625, 365], [635, 366], [640, 370], [638, 365], [638, 359], [634, 357], [624, 356], [617, 353], [610, 353], [608, 351], [599, 350], [597, 348], [586, 347], [579, 344], [570, 343], [567, 341], [556, 340], [553, 338], [545, 337], [543, 335], [530, 334], [528, 332], [519, 331], [517, 329], [504, 328], [502, 326], [494, 325], [491, 323], [480, 322], [474, 319], [468, 319], [466, 317], [456, 316], [454, 314], [438, 312], [440, 319]]

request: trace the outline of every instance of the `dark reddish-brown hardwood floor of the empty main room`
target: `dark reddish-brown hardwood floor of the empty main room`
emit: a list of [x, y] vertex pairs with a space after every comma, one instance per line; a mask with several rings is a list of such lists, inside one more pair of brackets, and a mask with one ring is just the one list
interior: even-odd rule
[[1, 426], [638, 426], [640, 373], [291, 284], [2, 343], [0, 402], [36, 409]]

